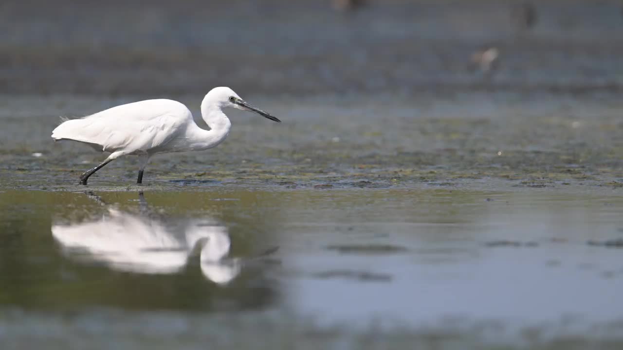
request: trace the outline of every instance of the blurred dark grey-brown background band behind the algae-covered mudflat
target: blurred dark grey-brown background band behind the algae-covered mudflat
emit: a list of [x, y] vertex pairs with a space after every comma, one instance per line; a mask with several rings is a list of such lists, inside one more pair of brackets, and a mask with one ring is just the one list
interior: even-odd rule
[[[621, 88], [619, 1], [3, 1], [6, 93]], [[26, 78], [27, 77], [27, 78]]]

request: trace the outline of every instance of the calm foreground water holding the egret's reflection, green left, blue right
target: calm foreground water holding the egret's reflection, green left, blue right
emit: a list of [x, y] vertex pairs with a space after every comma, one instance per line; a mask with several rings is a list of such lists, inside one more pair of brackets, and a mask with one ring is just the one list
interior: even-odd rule
[[300, 332], [356, 344], [347, 334], [371, 326], [455, 334], [446, 345], [621, 334], [621, 196], [7, 190], [0, 205], [0, 336], [14, 344], [231, 346], [257, 323], [264, 346]]

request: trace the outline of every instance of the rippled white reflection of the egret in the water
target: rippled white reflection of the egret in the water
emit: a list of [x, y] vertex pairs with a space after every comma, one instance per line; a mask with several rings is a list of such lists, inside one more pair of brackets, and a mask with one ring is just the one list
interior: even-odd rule
[[198, 252], [201, 271], [209, 280], [228, 283], [240, 273], [240, 260], [227, 258], [231, 240], [226, 227], [211, 219], [189, 220], [183, 229], [171, 227], [151, 217], [142, 193], [140, 201], [140, 214], [108, 207], [98, 220], [54, 224], [52, 235], [67, 253], [103, 262], [114, 270], [176, 273]]

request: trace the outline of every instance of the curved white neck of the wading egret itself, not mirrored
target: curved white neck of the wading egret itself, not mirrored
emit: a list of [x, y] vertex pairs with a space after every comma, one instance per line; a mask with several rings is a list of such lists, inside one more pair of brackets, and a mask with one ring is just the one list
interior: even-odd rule
[[231, 122], [223, 113], [221, 105], [214, 102], [209, 94], [201, 102], [201, 117], [206, 121], [210, 130], [204, 130], [192, 123], [186, 133], [187, 140], [190, 143], [189, 147], [193, 151], [201, 151], [202, 149], [217, 146], [225, 140], [231, 128]]

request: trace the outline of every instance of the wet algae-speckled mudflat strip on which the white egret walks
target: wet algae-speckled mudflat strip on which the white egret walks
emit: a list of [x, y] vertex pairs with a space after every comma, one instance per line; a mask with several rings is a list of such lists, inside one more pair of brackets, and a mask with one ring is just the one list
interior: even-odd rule
[[[199, 118], [201, 95], [173, 96]], [[134, 100], [140, 99], [135, 97]], [[59, 116], [80, 116], [133, 97], [3, 95], [0, 186], [78, 190], [104, 156], [49, 135]], [[231, 111], [231, 135], [201, 153], [155, 156], [142, 189], [466, 187], [620, 193], [623, 146], [616, 94], [424, 93], [356, 97], [247, 97], [284, 123]], [[122, 158], [92, 177], [105, 191], [136, 182]], [[617, 192], [618, 191], [618, 192]]]

